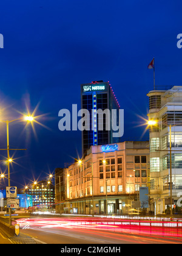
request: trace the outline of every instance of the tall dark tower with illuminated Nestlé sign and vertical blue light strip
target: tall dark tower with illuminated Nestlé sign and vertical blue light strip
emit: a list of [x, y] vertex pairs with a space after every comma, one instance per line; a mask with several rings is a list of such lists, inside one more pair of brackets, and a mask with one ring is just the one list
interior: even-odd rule
[[[112, 144], [120, 142], [120, 138], [113, 138], [112, 131], [112, 109], [116, 110], [116, 123], [118, 125], [118, 116], [120, 104], [110, 86], [109, 82], [94, 81], [90, 84], [81, 84], [81, 108], [89, 110], [89, 130], [82, 132], [82, 152], [86, 154], [90, 146]], [[106, 115], [99, 118], [97, 110], [110, 110], [110, 130], [107, 129]], [[99, 125], [103, 122], [103, 130]]]

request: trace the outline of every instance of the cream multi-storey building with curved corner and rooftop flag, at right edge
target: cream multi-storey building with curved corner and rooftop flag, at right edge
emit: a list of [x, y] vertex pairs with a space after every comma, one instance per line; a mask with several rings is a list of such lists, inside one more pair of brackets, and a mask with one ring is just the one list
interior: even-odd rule
[[170, 205], [170, 160], [172, 205], [177, 204], [182, 189], [182, 87], [156, 87], [147, 96], [149, 119], [158, 124], [150, 127], [150, 199], [155, 203], [155, 212], [160, 214]]

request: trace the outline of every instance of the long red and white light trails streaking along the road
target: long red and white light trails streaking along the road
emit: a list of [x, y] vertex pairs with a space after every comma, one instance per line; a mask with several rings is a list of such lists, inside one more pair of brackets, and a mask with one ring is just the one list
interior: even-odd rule
[[23, 229], [30, 227], [40, 227], [41, 229], [72, 229], [72, 230], [95, 230], [96, 232], [116, 232], [130, 233], [139, 235], [160, 235], [182, 238], [181, 222], [150, 221], [129, 219], [62, 219], [62, 218], [44, 218], [44, 219], [18, 219], [17, 223]]

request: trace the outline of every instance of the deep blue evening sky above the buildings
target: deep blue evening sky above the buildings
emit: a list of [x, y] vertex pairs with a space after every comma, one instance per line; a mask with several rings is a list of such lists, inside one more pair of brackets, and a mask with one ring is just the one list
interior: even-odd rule
[[[137, 115], [147, 115], [152, 58], [156, 84], [182, 85], [181, 7], [181, 1], [157, 0], [1, 2], [1, 119], [19, 117], [15, 110], [25, 112], [25, 101], [32, 110], [40, 103], [36, 114], [48, 113], [39, 121], [50, 128], [35, 125], [36, 139], [31, 127], [10, 126], [10, 146], [27, 148], [15, 154], [21, 158], [19, 166], [13, 164], [13, 185], [21, 187], [81, 156], [81, 132], [58, 130], [59, 110], [80, 107], [80, 84], [109, 80], [124, 108], [123, 140], [140, 140], [144, 127], [136, 127], [142, 121]], [[4, 148], [4, 124], [0, 140]], [[1, 159], [5, 154], [1, 151]]]

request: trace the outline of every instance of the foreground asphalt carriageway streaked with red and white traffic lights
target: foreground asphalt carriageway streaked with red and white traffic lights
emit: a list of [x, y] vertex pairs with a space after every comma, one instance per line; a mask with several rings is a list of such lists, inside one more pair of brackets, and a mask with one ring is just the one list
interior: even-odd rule
[[19, 222], [21, 233], [46, 244], [181, 244], [180, 238], [138, 234], [115, 226], [82, 226], [62, 219], [27, 219]]

